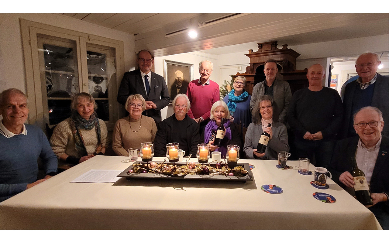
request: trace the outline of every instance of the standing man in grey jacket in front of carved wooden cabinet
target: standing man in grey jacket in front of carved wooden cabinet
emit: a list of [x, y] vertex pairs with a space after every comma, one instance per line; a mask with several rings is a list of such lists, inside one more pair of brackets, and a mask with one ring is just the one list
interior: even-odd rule
[[252, 111], [257, 99], [265, 94], [270, 95], [274, 100], [273, 119], [286, 124], [287, 109], [292, 99], [291, 88], [287, 82], [276, 78], [278, 72], [276, 60], [267, 60], [263, 72], [265, 73], [266, 79], [256, 84], [254, 89], [252, 89], [250, 110]]

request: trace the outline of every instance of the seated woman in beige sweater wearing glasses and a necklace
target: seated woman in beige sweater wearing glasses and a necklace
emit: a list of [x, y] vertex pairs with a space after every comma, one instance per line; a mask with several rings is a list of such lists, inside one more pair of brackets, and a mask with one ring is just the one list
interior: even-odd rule
[[128, 117], [119, 119], [112, 134], [112, 149], [118, 156], [128, 156], [128, 149], [140, 149], [140, 143], [154, 142], [157, 126], [154, 119], [142, 115], [146, 101], [140, 94], [128, 96], [126, 104]]

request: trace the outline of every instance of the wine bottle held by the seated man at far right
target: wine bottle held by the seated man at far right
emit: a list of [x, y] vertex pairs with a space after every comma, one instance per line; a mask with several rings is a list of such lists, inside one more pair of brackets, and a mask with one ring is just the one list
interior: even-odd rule
[[357, 200], [363, 205], [372, 205], [373, 200], [370, 198], [369, 185], [363, 171], [358, 169], [357, 162], [354, 157], [351, 158], [354, 165], [352, 166], [351, 175], [354, 177], [354, 191]]

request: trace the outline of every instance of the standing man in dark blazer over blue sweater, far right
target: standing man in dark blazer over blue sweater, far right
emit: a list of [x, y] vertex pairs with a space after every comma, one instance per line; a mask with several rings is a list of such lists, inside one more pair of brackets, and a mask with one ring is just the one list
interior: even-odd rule
[[[377, 107], [382, 112], [384, 122], [389, 124], [389, 78], [377, 73], [380, 64], [376, 53], [367, 52], [358, 57], [355, 68], [359, 78], [347, 84], [344, 92], [340, 138], [356, 136], [352, 117], [362, 107]], [[386, 126], [382, 132], [385, 136], [389, 136], [388, 128], [389, 126]]]

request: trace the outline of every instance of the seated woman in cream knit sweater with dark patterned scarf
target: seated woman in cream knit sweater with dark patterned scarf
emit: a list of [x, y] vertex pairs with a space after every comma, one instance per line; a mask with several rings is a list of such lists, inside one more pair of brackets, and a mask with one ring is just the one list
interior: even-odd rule
[[107, 126], [96, 117], [95, 99], [88, 93], [78, 93], [73, 97], [70, 109], [72, 115], [56, 126], [50, 139], [59, 158], [59, 168], [103, 155], [108, 147]]

